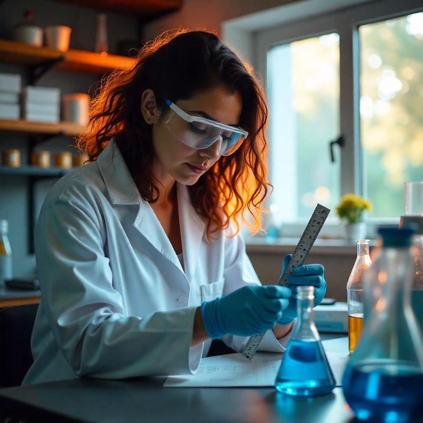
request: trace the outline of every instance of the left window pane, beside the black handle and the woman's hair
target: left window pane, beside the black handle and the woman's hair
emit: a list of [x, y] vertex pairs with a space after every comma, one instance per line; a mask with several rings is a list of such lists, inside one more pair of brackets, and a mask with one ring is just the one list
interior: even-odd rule
[[274, 217], [309, 218], [316, 203], [333, 209], [340, 165], [330, 162], [327, 146], [339, 134], [339, 35], [272, 47], [267, 97]]

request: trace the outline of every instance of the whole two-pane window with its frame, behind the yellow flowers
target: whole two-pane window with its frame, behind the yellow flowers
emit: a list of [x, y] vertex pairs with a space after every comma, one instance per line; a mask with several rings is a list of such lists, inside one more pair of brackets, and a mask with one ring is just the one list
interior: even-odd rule
[[423, 180], [422, 11], [384, 0], [255, 33], [269, 98], [269, 208], [297, 227], [288, 236], [318, 202], [335, 227], [349, 192], [372, 201], [368, 223], [398, 223], [404, 182]]

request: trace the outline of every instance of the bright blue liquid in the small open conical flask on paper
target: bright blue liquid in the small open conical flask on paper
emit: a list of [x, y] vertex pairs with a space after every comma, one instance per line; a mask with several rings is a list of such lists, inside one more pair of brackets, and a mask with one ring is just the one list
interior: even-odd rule
[[289, 395], [324, 395], [335, 378], [319, 341], [291, 339], [276, 376], [275, 387]]

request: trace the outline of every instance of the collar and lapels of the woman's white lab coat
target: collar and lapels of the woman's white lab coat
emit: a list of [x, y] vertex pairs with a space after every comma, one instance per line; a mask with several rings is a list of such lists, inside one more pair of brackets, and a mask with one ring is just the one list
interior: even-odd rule
[[[126, 166], [124, 157], [112, 140], [97, 159], [104, 184], [113, 204], [139, 204], [134, 227], [168, 260], [182, 271], [176, 252], [170, 244], [162, 225], [147, 201], [141, 198], [135, 182]], [[192, 206], [188, 189], [176, 183], [178, 200], [179, 227], [181, 231], [182, 252], [185, 276], [191, 282], [197, 266], [197, 256], [203, 240], [206, 222]]]

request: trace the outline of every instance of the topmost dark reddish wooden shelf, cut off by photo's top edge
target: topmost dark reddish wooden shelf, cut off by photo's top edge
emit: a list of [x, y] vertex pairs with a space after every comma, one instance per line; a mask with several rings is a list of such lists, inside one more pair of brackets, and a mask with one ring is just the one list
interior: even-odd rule
[[135, 14], [144, 20], [151, 20], [179, 10], [183, 0], [56, 0], [60, 3], [79, 4], [101, 10]]

